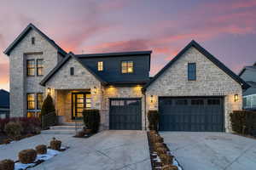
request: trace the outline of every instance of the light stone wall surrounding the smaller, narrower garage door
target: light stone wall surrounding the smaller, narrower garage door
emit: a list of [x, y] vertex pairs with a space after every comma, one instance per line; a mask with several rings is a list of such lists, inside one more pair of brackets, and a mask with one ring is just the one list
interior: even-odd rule
[[144, 96], [142, 94], [141, 86], [134, 87], [105, 87], [103, 89], [103, 102], [102, 111], [104, 111], [104, 117], [102, 117], [104, 129], [109, 129], [109, 99], [111, 98], [141, 98], [142, 99], [142, 127], [145, 129], [145, 113], [144, 113]]

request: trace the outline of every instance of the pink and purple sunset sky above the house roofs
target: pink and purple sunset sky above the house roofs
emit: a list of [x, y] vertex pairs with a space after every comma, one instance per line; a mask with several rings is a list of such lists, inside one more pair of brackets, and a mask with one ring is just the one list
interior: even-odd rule
[[75, 54], [153, 50], [151, 76], [192, 39], [236, 73], [256, 61], [256, 0], [1, 0], [0, 23], [7, 90], [2, 52], [29, 23]]

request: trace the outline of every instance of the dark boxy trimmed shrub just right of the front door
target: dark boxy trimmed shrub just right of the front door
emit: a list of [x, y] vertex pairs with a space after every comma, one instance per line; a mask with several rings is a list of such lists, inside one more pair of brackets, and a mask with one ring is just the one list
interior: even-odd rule
[[100, 127], [101, 117], [99, 110], [84, 110], [84, 125], [91, 129], [91, 133], [97, 133]]

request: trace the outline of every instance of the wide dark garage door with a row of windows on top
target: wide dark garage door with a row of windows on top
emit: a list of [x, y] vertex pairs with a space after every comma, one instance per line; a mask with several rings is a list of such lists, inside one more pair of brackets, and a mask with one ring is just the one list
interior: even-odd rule
[[223, 103], [221, 97], [160, 97], [160, 130], [223, 132]]

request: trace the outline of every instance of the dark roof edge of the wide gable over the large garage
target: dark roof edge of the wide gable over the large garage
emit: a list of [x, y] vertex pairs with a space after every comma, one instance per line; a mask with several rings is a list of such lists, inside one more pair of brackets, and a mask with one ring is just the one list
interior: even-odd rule
[[174, 57], [169, 63], [167, 63], [164, 68], [162, 68], [144, 87], [143, 91], [146, 91], [146, 89], [152, 84], [158, 77], [160, 77], [169, 67], [177, 61], [177, 59], [181, 58], [183, 54], [189, 50], [189, 48], [194, 47], [196, 48], [201, 54], [207, 57], [207, 59], [211, 60], [213, 64], [217, 65], [219, 69], [224, 71], [227, 75], [229, 75], [231, 78], [233, 78], [236, 82], [241, 84], [241, 87], [243, 89], [247, 89], [250, 86], [247, 84], [247, 82], [244, 82], [241, 77], [238, 77], [233, 71], [230, 71], [228, 67], [226, 67], [222, 62], [220, 62], [218, 59], [216, 59], [212, 54], [210, 54], [205, 48], [202, 48], [199, 43], [195, 42], [195, 40], [192, 40], [189, 42], [189, 44], [183, 48], [177, 55]]

